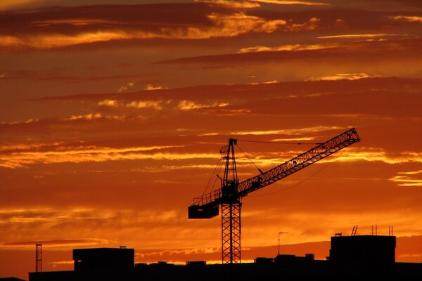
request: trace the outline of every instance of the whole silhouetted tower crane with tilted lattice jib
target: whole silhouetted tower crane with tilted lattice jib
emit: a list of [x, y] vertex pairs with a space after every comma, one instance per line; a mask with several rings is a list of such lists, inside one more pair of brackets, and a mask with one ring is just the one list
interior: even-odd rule
[[332, 155], [353, 143], [360, 141], [357, 131], [352, 128], [325, 143], [304, 152], [283, 164], [260, 175], [239, 183], [234, 157], [234, 145], [237, 140], [229, 139], [229, 144], [220, 152], [226, 166], [222, 178], [222, 188], [193, 199], [188, 207], [188, 218], [212, 218], [218, 216], [222, 207], [222, 263], [241, 262], [241, 198], [250, 192], [264, 188], [271, 183], [286, 178], [315, 162]]

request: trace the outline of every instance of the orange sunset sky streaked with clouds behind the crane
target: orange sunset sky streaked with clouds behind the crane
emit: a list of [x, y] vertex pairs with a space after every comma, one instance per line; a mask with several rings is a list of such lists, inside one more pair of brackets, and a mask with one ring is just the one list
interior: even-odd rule
[[27, 279], [37, 242], [46, 271], [120, 245], [219, 262], [220, 218], [187, 207], [228, 138], [264, 171], [312, 145], [242, 140], [351, 127], [360, 143], [243, 199], [242, 260], [280, 231], [283, 254], [325, 259], [377, 225], [422, 262], [421, 50], [420, 0], [1, 0], [0, 277]]

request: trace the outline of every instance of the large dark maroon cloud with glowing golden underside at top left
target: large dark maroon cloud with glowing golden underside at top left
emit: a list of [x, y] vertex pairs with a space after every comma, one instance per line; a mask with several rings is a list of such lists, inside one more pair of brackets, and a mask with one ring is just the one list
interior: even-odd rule
[[59, 48], [129, 39], [210, 39], [251, 32], [271, 33], [284, 20], [267, 20], [233, 5], [103, 5], [5, 12], [0, 22], [3, 48]]

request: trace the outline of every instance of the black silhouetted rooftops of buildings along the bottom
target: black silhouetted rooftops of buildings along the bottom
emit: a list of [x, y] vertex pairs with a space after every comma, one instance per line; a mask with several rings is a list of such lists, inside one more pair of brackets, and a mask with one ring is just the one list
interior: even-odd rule
[[212, 264], [188, 261], [134, 263], [134, 249], [74, 249], [75, 270], [30, 273], [30, 281], [272, 281], [272, 280], [422, 280], [422, 263], [395, 262], [395, 236], [331, 237], [330, 256], [279, 254], [254, 263]]

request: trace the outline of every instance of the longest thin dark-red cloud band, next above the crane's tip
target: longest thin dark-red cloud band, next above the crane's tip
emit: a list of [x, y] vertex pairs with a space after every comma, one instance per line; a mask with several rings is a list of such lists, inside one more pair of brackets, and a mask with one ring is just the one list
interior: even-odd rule
[[[272, 53], [272, 52], [271, 52]], [[255, 55], [255, 54], [254, 54]], [[352, 74], [354, 75], [354, 74]], [[358, 74], [359, 75], [359, 74]], [[161, 101], [164, 104], [182, 100], [196, 103], [229, 103], [238, 100], [267, 100], [281, 98], [286, 94], [295, 93], [296, 96], [321, 96], [324, 93], [349, 93], [350, 91], [362, 92], [382, 89], [395, 92], [397, 89], [409, 89], [411, 92], [421, 90], [421, 79], [407, 79], [399, 77], [373, 77], [356, 80], [341, 79], [337, 81], [280, 81], [279, 83], [232, 84], [232, 85], [202, 85], [183, 88], [162, 89], [160, 93], [154, 91], [136, 91], [132, 93], [93, 93], [77, 94], [70, 96], [46, 96], [38, 98], [37, 102], [51, 101], [87, 101], [97, 104], [101, 100], [117, 100], [117, 102], [132, 103], [132, 101]], [[345, 77], [347, 78], [347, 77]], [[201, 93], [201, 95], [198, 95]], [[228, 95], [227, 93], [234, 93]], [[257, 95], [260, 93], [260, 95]], [[241, 96], [239, 96], [241, 95]], [[2, 123], [0, 123], [2, 124]], [[4, 123], [3, 123], [4, 124]], [[9, 123], [8, 123], [9, 124]]]

